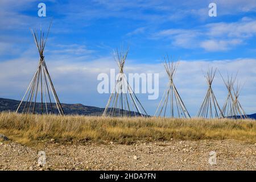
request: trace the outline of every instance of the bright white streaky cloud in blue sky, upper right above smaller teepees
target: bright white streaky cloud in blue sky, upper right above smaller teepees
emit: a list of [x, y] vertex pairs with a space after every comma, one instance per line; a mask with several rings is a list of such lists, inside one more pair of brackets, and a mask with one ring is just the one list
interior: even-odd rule
[[154, 39], [169, 39], [173, 46], [201, 47], [205, 51], [226, 51], [245, 43], [256, 35], [256, 21], [243, 18], [234, 23], [210, 23], [193, 29], [168, 29], [152, 35]]

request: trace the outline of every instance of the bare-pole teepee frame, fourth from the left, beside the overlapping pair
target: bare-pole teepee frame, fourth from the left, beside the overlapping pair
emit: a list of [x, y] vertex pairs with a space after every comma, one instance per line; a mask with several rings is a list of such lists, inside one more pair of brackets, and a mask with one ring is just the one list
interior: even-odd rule
[[222, 110], [220, 109], [220, 106], [218, 105], [218, 102], [212, 90], [212, 82], [215, 77], [216, 70], [217, 69], [214, 69], [213, 71], [213, 68], [209, 69], [209, 71], [207, 72], [207, 75], [205, 76], [208, 84], [208, 90], [207, 90], [207, 94], [204, 97], [203, 103], [196, 114], [197, 117], [203, 117], [203, 118], [224, 117]]

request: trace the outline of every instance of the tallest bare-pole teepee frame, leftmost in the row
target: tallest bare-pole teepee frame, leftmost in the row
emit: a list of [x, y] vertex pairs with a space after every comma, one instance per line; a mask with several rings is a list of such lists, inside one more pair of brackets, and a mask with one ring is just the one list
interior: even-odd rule
[[[64, 115], [63, 107], [60, 104], [56, 90], [49, 75], [46, 62], [44, 61], [44, 48], [46, 46], [50, 28], [51, 24], [48, 28], [46, 38], [44, 37], [44, 32], [42, 32], [42, 30], [40, 30], [39, 36], [37, 32], [30, 29], [31, 34], [34, 37], [36, 47], [38, 48], [40, 59], [38, 69], [36, 70], [35, 75], [32, 78], [32, 81], [30, 82], [22, 101], [18, 106], [18, 109], [16, 110], [16, 113], [53, 114], [55, 111], [57, 111], [57, 113], [60, 115]], [[51, 94], [49, 89], [51, 90]], [[39, 102], [36, 103], [38, 100]], [[53, 105], [53, 100], [56, 107]]]

